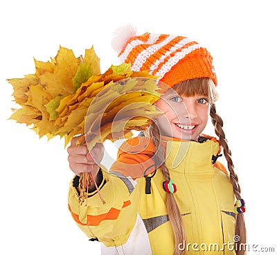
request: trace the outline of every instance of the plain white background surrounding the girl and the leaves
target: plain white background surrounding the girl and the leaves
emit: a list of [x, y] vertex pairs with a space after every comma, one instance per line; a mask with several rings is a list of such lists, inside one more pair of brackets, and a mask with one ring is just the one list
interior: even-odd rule
[[139, 33], [193, 38], [212, 53], [217, 111], [247, 202], [248, 241], [275, 247], [277, 254], [274, 2], [1, 1], [0, 254], [100, 254], [99, 244], [87, 240], [67, 209], [73, 173], [63, 141], [38, 139], [24, 124], [7, 121], [16, 105], [6, 79], [35, 73], [33, 57], [47, 61], [60, 45], [79, 56], [94, 44], [105, 71], [118, 64], [112, 32], [126, 23]]

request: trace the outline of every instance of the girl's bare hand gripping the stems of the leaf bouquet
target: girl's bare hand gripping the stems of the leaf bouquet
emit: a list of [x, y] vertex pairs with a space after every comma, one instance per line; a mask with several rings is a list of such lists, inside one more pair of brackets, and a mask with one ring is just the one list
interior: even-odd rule
[[69, 153], [69, 167], [75, 175], [80, 176], [81, 173], [91, 172], [97, 179], [100, 162], [104, 156], [104, 146], [102, 143], [97, 143], [89, 153], [85, 144], [76, 144], [79, 138], [73, 137], [71, 145], [67, 148], [67, 152]]

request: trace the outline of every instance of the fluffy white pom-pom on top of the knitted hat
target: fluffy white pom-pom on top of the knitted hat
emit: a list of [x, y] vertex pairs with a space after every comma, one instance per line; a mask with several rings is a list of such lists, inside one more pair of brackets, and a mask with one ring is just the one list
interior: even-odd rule
[[136, 28], [132, 24], [126, 24], [125, 26], [120, 26], [117, 28], [111, 38], [111, 48], [116, 52], [123, 50], [125, 44], [132, 37], [136, 36]]

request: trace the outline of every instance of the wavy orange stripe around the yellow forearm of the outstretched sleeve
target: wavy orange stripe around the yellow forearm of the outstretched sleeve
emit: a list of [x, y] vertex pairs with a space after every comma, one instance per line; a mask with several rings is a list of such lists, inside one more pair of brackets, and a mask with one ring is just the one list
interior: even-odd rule
[[[124, 207], [128, 206], [129, 204], [131, 204], [131, 201], [129, 201], [129, 200], [123, 202], [122, 209]], [[77, 222], [78, 224], [80, 224], [82, 226], [98, 226], [100, 224], [100, 222], [102, 222], [103, 220], [116, 220], [120, 213], [120, 210], [111, 208], [111, 209], [109, 209], [109, 211], [107, 213], [103, 213], [98, 216], [88, 215], [87, 216], [87, 224], [84, 224], [84, 223], [80, 222], [78, 214], [73, 213], [70, 206], [69, 206], [69, 211], [71, 212], [71, 216], [73, 217], [73, 220], [75, 220], [75, 222]]]

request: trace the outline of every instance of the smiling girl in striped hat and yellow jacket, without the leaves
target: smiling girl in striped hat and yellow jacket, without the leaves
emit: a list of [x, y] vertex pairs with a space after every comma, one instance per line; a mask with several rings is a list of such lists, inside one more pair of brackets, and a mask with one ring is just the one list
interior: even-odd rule
[[[102, 243], [102, 254], [244, 254], [245, 207], [215, 109], [211, 54], [187, 37], [136, 36], [133, 30], [113, 43], [121, 62], [159, 76], [170, 89], [155, 103], [164, 114], [143, 136], [123, 143], [109, 173], [99, 168], [101, 143], [89, 153], [87, 146], [76, 145], [78, 138], [71, 141], [73, 219], [91, 240]], [[208, 114], [219, 141], [202, 134]], [[221, 148], [228, 171], [217, 161]], [[93, 185], [87, 205], [79, 204], [84, 172], [96, 177], [105, 204]]]

